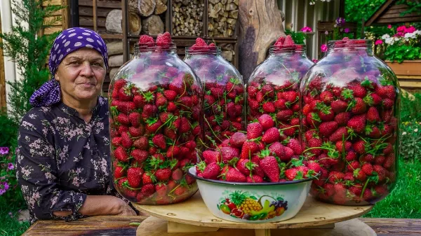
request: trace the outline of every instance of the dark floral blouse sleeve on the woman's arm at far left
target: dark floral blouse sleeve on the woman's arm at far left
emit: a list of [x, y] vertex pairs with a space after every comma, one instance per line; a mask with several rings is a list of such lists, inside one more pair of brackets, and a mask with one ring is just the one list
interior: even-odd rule
[[[19, 128], [16, 176], [35, 219], [72, 221], [83, 217], [77, 211], [85, 202], [86, 194], [58, 188], [55, 148], [46, 138], [52, 137], [53, 132], [42, 112], [32, 109], [27, 113]], [[72, 214], [58, 217], [53, 215], [54, 211], [72, 211]]]

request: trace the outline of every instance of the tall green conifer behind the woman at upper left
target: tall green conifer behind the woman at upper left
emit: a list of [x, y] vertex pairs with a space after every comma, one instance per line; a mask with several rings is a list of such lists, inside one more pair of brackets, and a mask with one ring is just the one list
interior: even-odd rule
[[[53, 40], [58, 33], [41, 35], [44, 29], [51, 27], [60, 17], [53, 17], [55, 11], [65, 6], [41, 7], [44, 0], [15, 0], [12, 2], [12, 12], [15, 23], [12, 32], [0, 34], [4, 55], [16, 62], [22, 80], [8, 83], [11, 92], [8, 94], [8, 113], [14, 123], [19, 123], [22, 116], [31, 109], [29, 97], [50, 76], [46, 68], [48, 53]], [[47, 1], [49, 2], [49, 1]], [[44, 18], [52, 20], [44, 22]]]

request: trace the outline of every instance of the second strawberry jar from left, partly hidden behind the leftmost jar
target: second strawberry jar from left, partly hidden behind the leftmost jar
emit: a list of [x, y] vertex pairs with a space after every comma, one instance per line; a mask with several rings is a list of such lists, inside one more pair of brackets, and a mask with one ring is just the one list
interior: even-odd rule
[[220, 47], [201, 38], [186, 48], [185, 62], [201, 80], [204, 93], [203, 146], [215, 148], [244, 130], [244, 85], [239, 71], [221, 56]]

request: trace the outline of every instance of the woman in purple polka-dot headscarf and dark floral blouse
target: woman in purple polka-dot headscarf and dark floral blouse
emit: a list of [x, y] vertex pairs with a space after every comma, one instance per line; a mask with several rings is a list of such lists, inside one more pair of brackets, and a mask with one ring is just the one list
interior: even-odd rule
[[135, 215], [110, 173], [107, 46], [90, 29], [62, 32], [51, 48], [53, 79], [34, 92], [19, 129], [17, 176], [31, 223]]

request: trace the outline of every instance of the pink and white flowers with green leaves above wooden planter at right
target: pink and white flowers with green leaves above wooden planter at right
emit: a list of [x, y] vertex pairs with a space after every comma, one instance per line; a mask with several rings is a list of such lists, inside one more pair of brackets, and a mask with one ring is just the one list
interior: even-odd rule
[[401, 25], [396, 31], [392, 27], [389, 29], [391, 34], [383, 34], [382, 40], [376, 41], [376, 45], [385, 43], [383, 60], [401, 63], [403, 60], [421, 58], [421, 30], [415, 29], [412, 25], [410, 27]]

